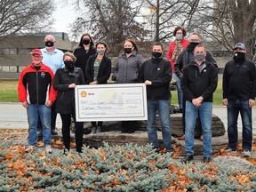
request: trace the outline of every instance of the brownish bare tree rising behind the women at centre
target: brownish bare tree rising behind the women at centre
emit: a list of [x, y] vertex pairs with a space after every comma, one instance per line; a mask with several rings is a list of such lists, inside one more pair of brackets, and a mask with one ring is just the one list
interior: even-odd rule
[[147, 36], [147, 30], [136, 20], [141, 7], [136, 0], [76, 0], [76, 4], [86, 5], [72, 27], [76, 36], [90, 32], [97, 40], [115, 44], [112, 52], [119, 52], [126, 38], [142, 41]]

